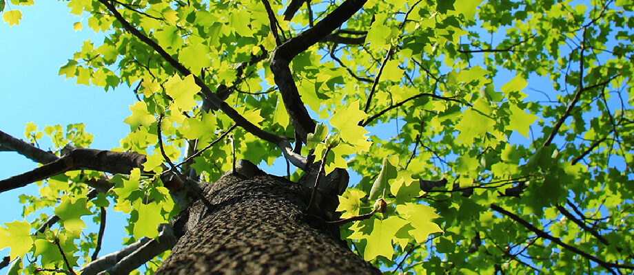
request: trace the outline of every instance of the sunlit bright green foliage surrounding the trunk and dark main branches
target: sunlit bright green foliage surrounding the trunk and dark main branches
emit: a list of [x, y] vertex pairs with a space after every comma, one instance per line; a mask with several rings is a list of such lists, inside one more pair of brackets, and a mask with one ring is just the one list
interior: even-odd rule
[[[78, 47], [59, 74], [106, 91], [139, 85], [140, 100], [125, 119], [130, 133], [115, 151], [143, 153], [145, 170], [159, 172], [166, 162], [159, 120], [172, 162], [235, 124], [205, 107], [194, 76], [212, 92], [233, 87], [225, 102], [237, 113], [295, 139], [270, 69], [276, 38], [262, 1], [124, 2], [117, 5], [122, 17], [192, 74], [180, 74], [99, 1], [68, 1], [71, 13], [88, 17], [83, 23], [105, 39]], [[342, 3], [311, 3], [312, 17], [303, 5], [281, 21], [288, 1], [269, 2], [286, 39]], [[17, 24], [21, 13], [12, 5], [30, 3], [0, 0], [4, 21]], [[384, 212], [343, 225], [342, 236], [364, 259], [402, 274], [631, 273], [633, 10], [628, 0], [370, 0], [336, 41], [323, 39], [298, 54], [292, 77], [320, 122], [303, 155], [314, 150], [320, 162], [329, 152], [327, 173], [353, 174], [340, 197], [342, 218], [369, 213], [376, 199], [387, 203]], [[46, 134], [55, 153], [92, 142], [81, 124], [37, 129], [27, 124], [25, 137], [37, 143]], [[232, 148], [236, 159], [260, 166], [282, 155], [241, 127], [230, 137], [190, 165], [201, 179], [231, 169]], [[43, 265], [59, 265], [50, 245], [56, 239], [70, 256], [88, 255], [95, 238], [74, 230], [83, 225], [81, 215], [96, 219], [108, 199], [130, 214], [130, 242], [156, 236], [156, 225], [178, 213], [159, 179], [140, 170], [114, 175], [114, 188], [92, 201], [79, 199], [88, 190], [85, 177], [99, 173], [58, 175], [38, 183], [39, 196], [20, 197], [25, 215], [81, 211], [37, 236], [43, 245], [36, 250], [30, 232], [45, 217], [7, 223], [0, 240], [12, 257], [31, 251]]]

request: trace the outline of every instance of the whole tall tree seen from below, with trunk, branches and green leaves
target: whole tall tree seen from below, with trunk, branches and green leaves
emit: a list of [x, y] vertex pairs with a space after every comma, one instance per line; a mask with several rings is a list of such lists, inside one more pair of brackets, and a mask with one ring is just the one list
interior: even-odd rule
[[[139, 101], [111, 151], [0, 132], [43, 164], [0, 190], [42, 181], [25, 214], [55, 213], [0, 228], [12, 271], [634, 270], [630, 1], [68, 6], [108, 35], [59, 73]], [[280, 156], [287, 179], [253, 165]], [[99, 258], [80, 218], [110, 203], [130, 239]]]

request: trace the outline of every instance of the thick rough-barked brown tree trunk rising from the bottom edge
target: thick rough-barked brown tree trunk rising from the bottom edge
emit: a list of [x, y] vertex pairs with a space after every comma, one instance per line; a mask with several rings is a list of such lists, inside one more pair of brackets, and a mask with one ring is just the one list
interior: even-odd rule
[[380, 274], [338, 228], [305, 214], [309, 190], [298, 183], [227, 173], [203, 190], [214, 208], [192, 206], [157, 274]]

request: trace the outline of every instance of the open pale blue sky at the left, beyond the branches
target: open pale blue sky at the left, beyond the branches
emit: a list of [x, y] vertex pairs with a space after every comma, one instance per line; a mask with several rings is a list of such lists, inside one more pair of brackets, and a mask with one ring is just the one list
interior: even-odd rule
[[[5, 10], [10, 8], [16, 7], [9, 4]], [[69, 14], [70, 8], [63, 2], [38, 1], [36, 5], [18, 8], [23, 14], [19, 25], [0, 24], [0, 131], [24, 139], [28, 122], [34, 122], [40, 131], [46, 125], [59, 124], [65, 129], [68, 124], [83, 123], [85, 131], [94, 135], [92, 148], [119, 146], [119, 140], [130, 131], [123, 119], [130, 115], [128, 105], [136, 100], [132, 89], [121, 87], [105, 92], [100, 87], [76, 85], [75, 79], [58, 76], [59, 67], [72, 58], [84, 40], [99, 43], [103, 41], [103, 33], [95, 34], [89, 28], [74, 31], [73, 24], [83, 18]], [[86, 20], [82, 22], [84, 26]], [[50, 144], [40, 146], [48, 150]], [[22, 155], [0, 152], [1, 179], [35, 167], [36, 163]], [[23, 220], [18, 199], [23, 193], [37, 194], [37, 186], [32, 184], [0, 194], [3, 208], [0, 225]], [[123, 221], [123, 217], [108, 211], [107, 234], [100, 255], [121, 248], [123, 228], [115, 220]], [[0, 257], [8, 252], [1, 250]]]

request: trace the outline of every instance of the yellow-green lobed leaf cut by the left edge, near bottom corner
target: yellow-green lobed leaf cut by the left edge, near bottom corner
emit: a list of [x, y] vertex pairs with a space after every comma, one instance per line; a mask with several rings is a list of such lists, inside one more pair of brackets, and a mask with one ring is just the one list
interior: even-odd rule
[[11, 259], [23, 257], [33, 248], [34, 236], [31, 235], [31, 225], [26, 221], [5, 223], [6, 228], [0, 226], [0, 247], [11, 248]]

